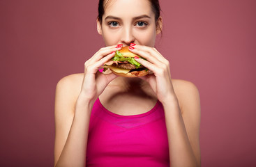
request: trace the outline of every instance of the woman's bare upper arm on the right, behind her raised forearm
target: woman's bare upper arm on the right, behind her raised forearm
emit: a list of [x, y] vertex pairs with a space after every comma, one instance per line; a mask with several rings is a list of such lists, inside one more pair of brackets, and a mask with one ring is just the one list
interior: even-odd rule
[[181, 81], [176, 88], [183, 121], [193, 152], [200, 161], [199, 130], [200, 130], [200, 99], [197, 87], [189, 81]]

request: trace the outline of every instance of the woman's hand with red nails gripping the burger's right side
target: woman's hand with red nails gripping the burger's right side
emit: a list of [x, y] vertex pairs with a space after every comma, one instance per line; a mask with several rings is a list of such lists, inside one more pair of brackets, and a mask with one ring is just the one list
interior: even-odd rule
[[153, 74], [147, 74], [141, 78], [149, 82], [158, 100], [165, 102], [165, 100], [176, 97], [172, 86], [169, 61], [153, 47], [133, 45], [129, 47], [129, 50], [146, 58], [146, 61], [143, 58], [135, 58], [135, 60], [153, 72]]

